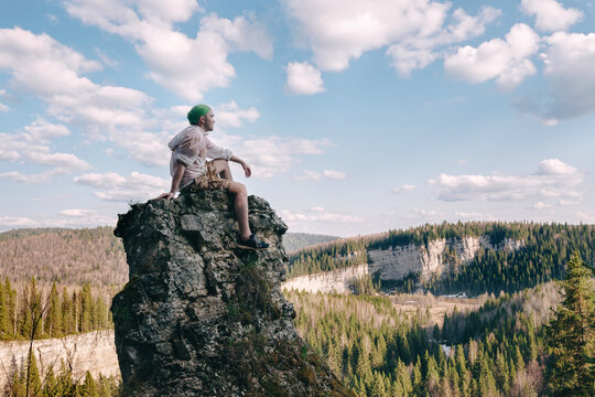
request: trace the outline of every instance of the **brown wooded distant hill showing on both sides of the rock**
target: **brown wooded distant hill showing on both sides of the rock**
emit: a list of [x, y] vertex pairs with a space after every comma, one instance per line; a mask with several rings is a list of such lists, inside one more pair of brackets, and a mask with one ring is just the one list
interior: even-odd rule
[[[338, 237], [307, 233], [283, 236], [285, 250], [295, 251]], [[122, 242], [113, 228], [25, 228], [0, 233], [0, 277], [13, 282], [121, 287], [128, 281]]]

